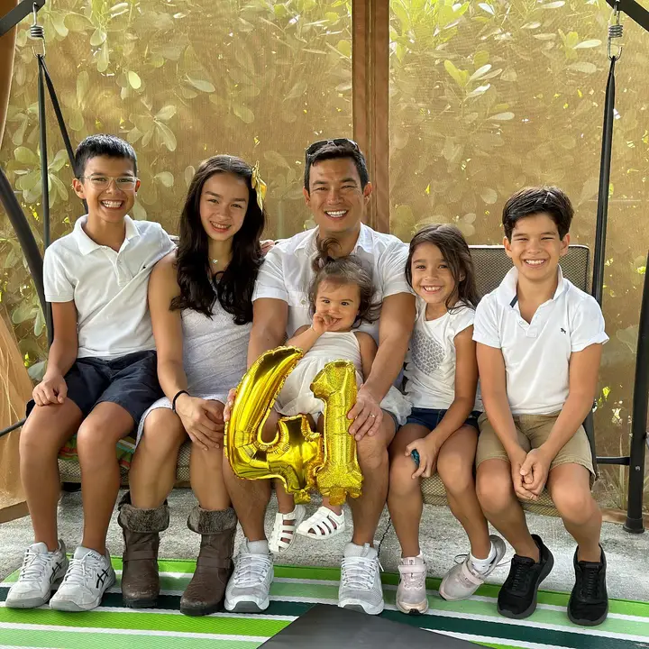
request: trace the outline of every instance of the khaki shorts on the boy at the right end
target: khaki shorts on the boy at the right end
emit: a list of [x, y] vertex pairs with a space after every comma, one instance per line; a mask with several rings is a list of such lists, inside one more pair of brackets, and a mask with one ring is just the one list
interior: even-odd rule
[[[518, 443], [526, 452], [538, 448], [550, 436], [554, 422], [559, 413], [553, 415], [515, 415], [514, 425], [518, 434]], [[505, 447], [500, 443], [496, 431], [489, 423], [486, 414], [480, 415], [478, 419], [480, 436], [478, 437], [478, 450], [476, 452], [476, 466], [485, 460], [505, 460], [509, 462]], [[583, 426], [580, 426], [571, 439], [556, 454], [550, 471], [561, 464], [579, 464], [590, 471], [590, 482], [592, 483], [597, 474], [593, 466], [592, 452], [588, 435]]]

